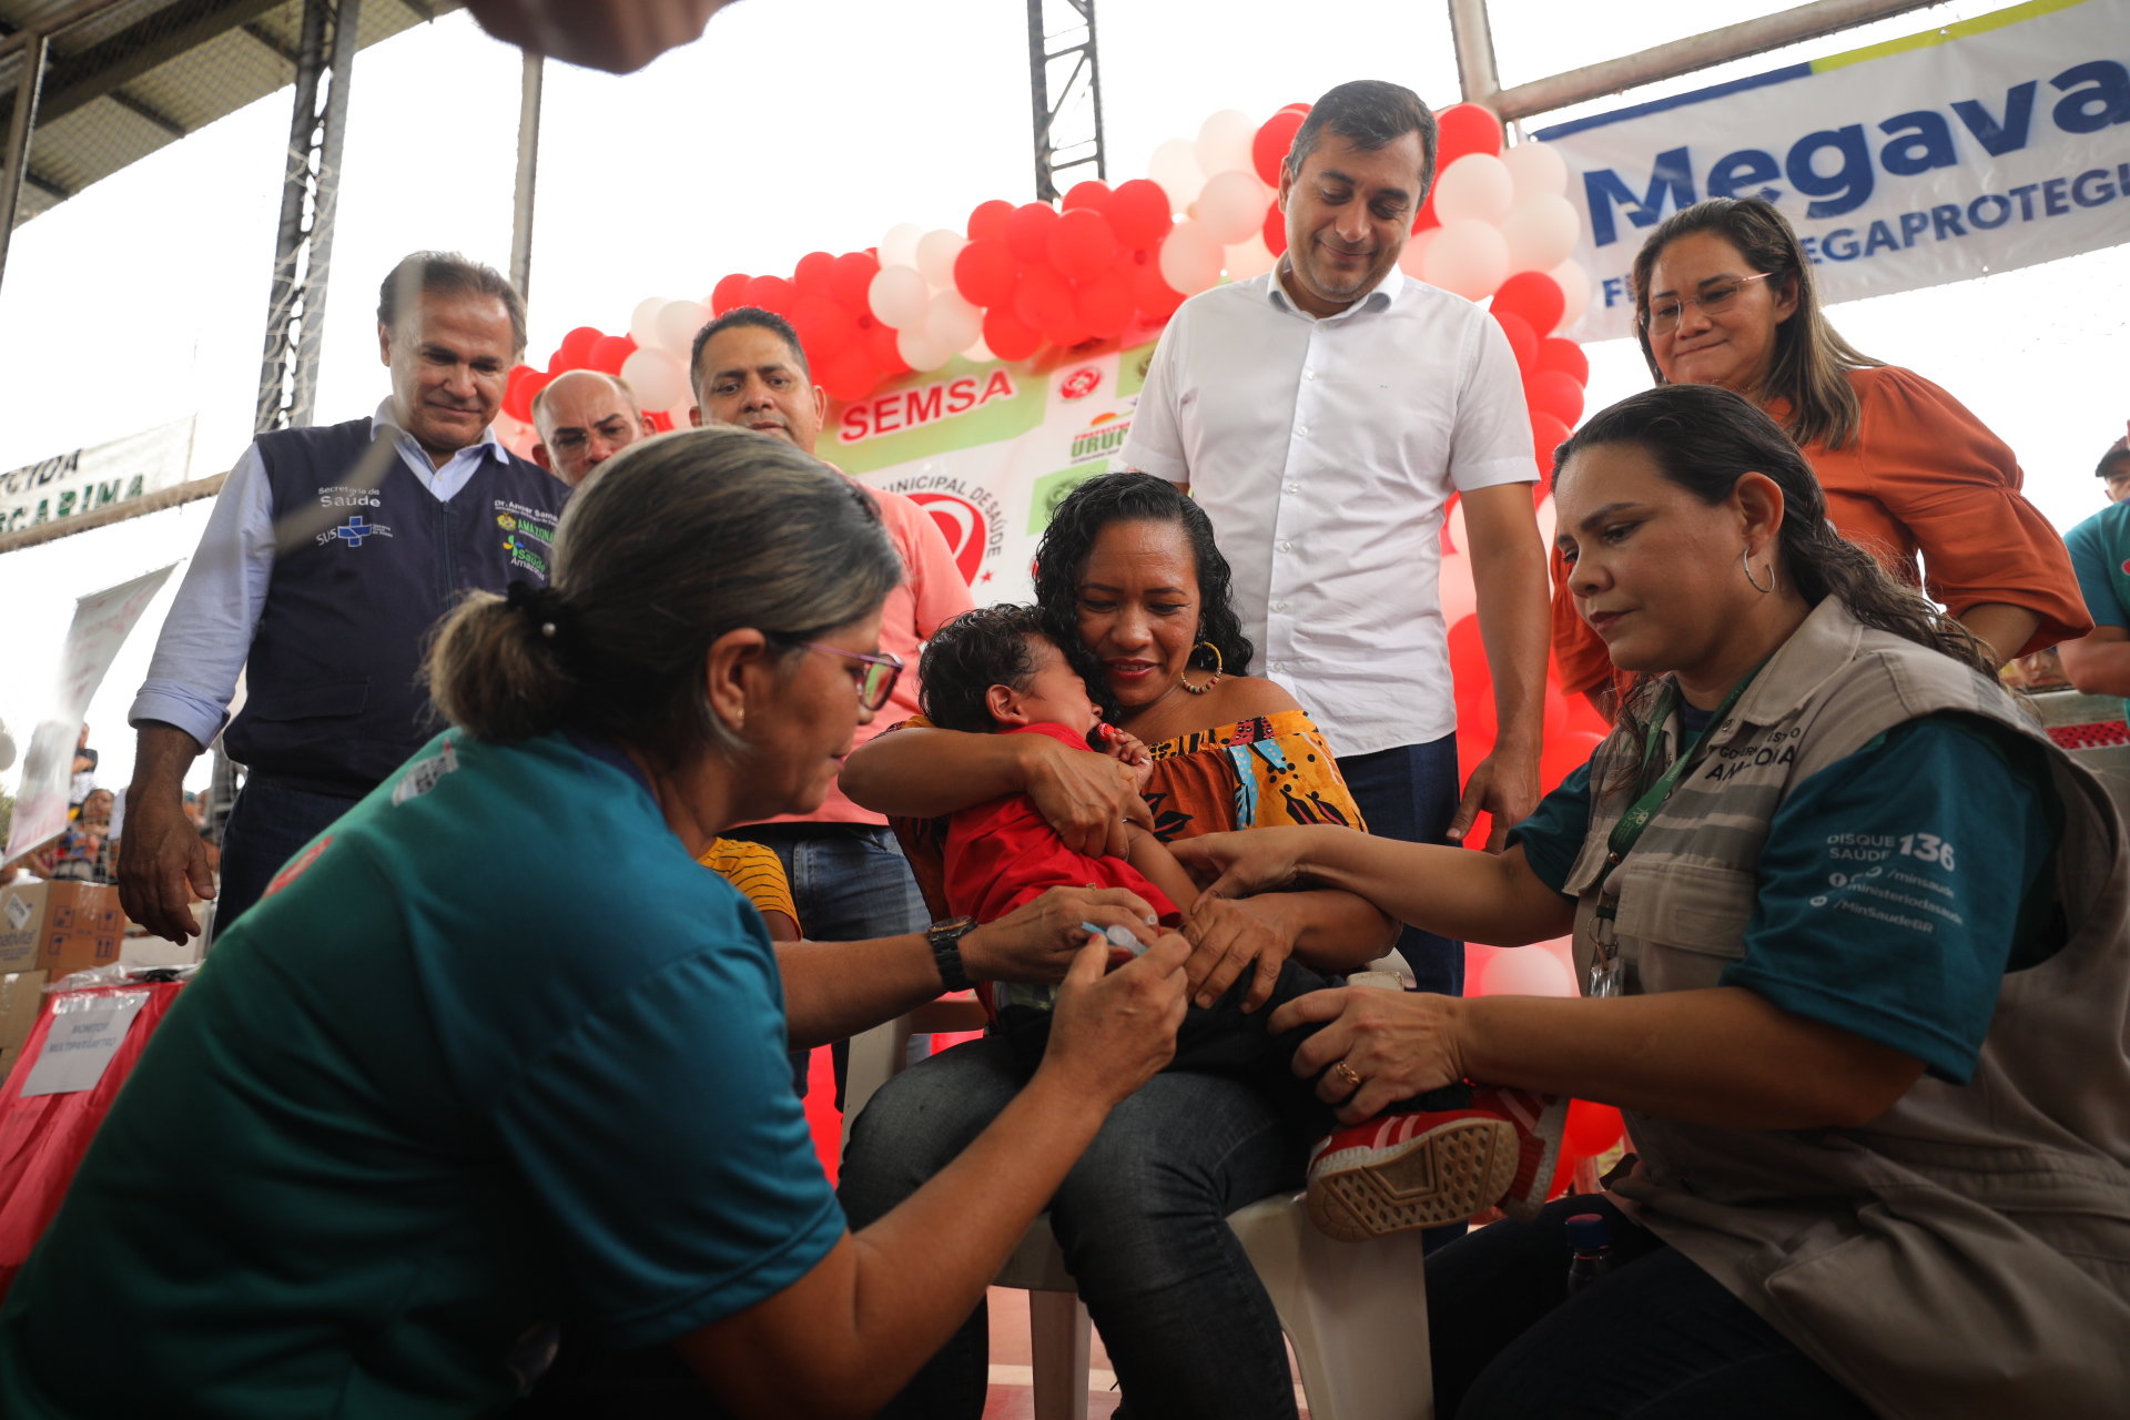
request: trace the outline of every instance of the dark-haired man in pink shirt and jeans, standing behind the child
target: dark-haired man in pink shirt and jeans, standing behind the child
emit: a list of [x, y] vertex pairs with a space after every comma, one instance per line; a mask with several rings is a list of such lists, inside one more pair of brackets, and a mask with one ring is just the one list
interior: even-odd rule
[[[688, 364], [694, 385], [690, 417], [737, 424], [784, 439], [807, 453], [829, 417], [829, 396], [814, 383], [799, 336], [782, 315], [756, 307], [726, 311], [694, 336]], [[976, 600], [954, 566], [946, 534], [931, 513], [901, 494], [865, 488], [880, 509], [895, 549], [903, 554], [903, 585], [880, 613], [880, 649], [899, 656], [905, 671], [895, 694], [858, 726], [858, 743], [918, 713], [918, 651], [941, 622], [969, 611]], [[733, 828], [724, 837], [752, 839], [784, 860], [799, 905], [799, 930], [812, 941], [867, 941], [918, 932], [931, 922], [910, 864], [888, 820], [850, 803], [839, 788], [807, 818], [780, 818]], [[931, 1037], [912, 1037], [912, 1056], [931, 1052]], [[843, 1105], [846, 1047], [835, 1047], [835, 1103]], [[805, 1094], [805, 1056], [792, 1056], [792, 1075]]]

